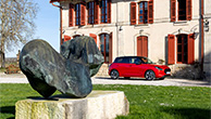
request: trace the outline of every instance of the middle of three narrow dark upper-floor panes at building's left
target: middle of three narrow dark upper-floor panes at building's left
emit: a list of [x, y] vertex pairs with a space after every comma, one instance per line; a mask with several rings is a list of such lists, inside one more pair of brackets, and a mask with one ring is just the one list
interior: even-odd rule
[[95, 2], [88, 2], [88, 24], [94, 24], [95, 21]]

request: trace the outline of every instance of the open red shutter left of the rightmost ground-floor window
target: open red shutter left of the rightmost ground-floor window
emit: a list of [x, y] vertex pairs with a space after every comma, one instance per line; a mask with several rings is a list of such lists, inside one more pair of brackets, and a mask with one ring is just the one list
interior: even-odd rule
[[175, 36], [169, 35], [167, 36], [167, 64], [175, 63]]

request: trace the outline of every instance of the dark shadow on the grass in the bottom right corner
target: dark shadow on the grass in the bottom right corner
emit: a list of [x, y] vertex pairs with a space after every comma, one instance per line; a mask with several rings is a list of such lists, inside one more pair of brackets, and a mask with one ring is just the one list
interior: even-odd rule
[[164, 113], [170, 115], [181, 116], [184, 119], [210, 119], [211, 109], [200, 109], [200, 108], [163, 108]]

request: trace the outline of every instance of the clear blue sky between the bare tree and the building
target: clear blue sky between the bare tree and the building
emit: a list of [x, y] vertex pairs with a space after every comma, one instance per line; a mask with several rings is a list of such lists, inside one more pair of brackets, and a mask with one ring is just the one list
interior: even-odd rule
[[[34, 21], [36, 24], [36, 31], [34, 39], [44, 39], [49, 42], [58, 52], [60, 50], [60, 10], [49, 3], [50, 0], [33, 0], [38, 3], [39, 10], [37, 18]], [[32, 39], [29, 39], [32, 40]], [[5, 57], [15, 57], [17, 50], [22, 47], [14, 49], [14, 51], [7, 52]]]

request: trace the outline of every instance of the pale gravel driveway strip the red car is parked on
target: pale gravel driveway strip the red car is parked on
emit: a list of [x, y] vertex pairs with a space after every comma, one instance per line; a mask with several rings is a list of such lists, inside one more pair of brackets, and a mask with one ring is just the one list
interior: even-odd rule
[[[208, 81], [188, 80], [188, 79], [170, 79], [148, 81], [146, 79], [123, 79], [112, 80], [110, 77], [94, 77], [94, 84], [145, 84], [145, 85], [177, 85], [177, 87], [209, 87]], [[28, 83], [28, 80], [23, 74], [5, 75], [0, 72], [0, 83]]]

